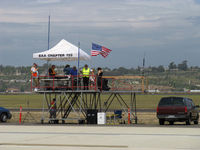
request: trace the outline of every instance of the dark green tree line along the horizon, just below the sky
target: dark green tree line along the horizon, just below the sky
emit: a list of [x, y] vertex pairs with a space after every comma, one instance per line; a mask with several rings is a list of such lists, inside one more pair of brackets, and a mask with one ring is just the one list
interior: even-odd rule
[[[184, 60], [179, 64], [175, 64], [174, 62], [170, 62], [167, 67], [164, 67], [163, 65], [159, 66], [148, 66], [148, 67], [141, 67], [138, 66], [137, 68], [125, 68], [125, 67], [119, 67], [110, 69], [108, 67], [103, 68], [105, 75], [134, 75], [134, 74], [143, 74], [146, 72], [156, 73], [156, 72], [165, 72], [165, 71], [173, 71], [173, 70], [180, 70], [180, 71], [188, 71], [188, 70], [200, 70], [198, 66], [188, 66], [188, 61]], [[16, 78], [16, 76], [21, 76], [21, 79], [28, 79], [30, 78], [30, 68], [31, 66], [3, 66], [0, 65], [0, 79], [3, 78], [3, 76], [6, 76], [7, 78], [13, 77], [13, 79]], [[42, 66], [39, 66], [40, 73], [44, 73], [47, 71], [48, 65], [44, 64]], [[64, 66], [57, 66], [57, 68], [64, 68]], [[18, 77], [20, 78], [20, 77]]]

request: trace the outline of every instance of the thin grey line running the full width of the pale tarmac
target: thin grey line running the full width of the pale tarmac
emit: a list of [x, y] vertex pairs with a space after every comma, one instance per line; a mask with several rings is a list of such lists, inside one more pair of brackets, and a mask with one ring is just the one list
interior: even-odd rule
[[182, 136], [191, 136], [191, 137], [200, 137], [200, 134], [198, 135], [192, 135], [192, 134], [139, 134], [139, 133], [72, 133], [72, 132], [0, 132], [1, 134], [47, 134], [47, 135], [97, 135], [97, 136], [177, 136], [177, 137], [182, 137]]

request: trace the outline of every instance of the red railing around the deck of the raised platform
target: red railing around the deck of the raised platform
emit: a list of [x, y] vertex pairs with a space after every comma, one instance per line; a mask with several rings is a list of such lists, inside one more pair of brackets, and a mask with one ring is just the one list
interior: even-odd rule
[[[88, 75], [89, 84], [85, 89], [95, 91], [139, 91], [145, 92], [143, 76]], [[84, 90], [83, 75], [39, 76], [39, 84], [31, 77], [31, 90]], [[148, 88], [148, 86], [146, 86]]]

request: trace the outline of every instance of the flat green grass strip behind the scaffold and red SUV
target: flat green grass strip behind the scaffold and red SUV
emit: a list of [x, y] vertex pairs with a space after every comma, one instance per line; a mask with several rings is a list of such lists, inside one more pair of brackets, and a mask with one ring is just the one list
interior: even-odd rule
[[[177, 96], [177, 95], [136, 95], [136, 106], [137, 108], [142, 109], [156, 109], [157, 104], [161, 97], [166, 96]], [[183, 97], [188, 97], [193, 99], [194, 103], [196, 105], [200, 105], [200, 94], [199, 95], [178, 95]], [[102, 101], [105, 101], [107, 99], [107, 95], [104, 95], [102, 97]], [[130, 104], [130, 95], [122, 95], [124, 100], [127, 102], [127, 104]], [[43, 107], [43, 100], [44, 95], [41, 94], [24, 94], [24, 95], [0, 95], [0, 106], [7, 107], [7, 108], [19, 108], [22, 106], [23, 108], [27, 107], [27, 103], [29, 103], [30, 108], [42, 108]], [[117, 101], [114, 101], [112, 103], [111, 108], [115, 109], [115, 107], [119, 107], [119, 103]]]

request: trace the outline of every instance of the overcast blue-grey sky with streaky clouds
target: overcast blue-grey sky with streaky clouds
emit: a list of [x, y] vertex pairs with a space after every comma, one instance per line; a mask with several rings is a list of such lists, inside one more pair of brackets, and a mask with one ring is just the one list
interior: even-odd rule
[[0, 0], [0, 64], [31, 65], [34, 52], [61, 39], [90, 54], [91, 43], [112, 49], [88, 63], [102, 67], [159, 66], [188, 60], [200, 66], [200, 0]]

